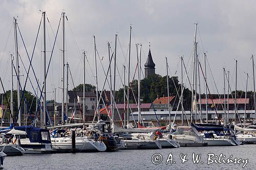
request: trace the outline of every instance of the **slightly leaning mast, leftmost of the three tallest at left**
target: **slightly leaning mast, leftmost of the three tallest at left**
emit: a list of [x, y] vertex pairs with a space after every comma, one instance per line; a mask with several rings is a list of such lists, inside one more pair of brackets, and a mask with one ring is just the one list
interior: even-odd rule
[[17, 67], [17, 104], [18, 104], [18, 125], [22, 126], [22, 111], [20, 108], [20, 87], [19, 87], [19, 64], [18, 64], [18, 39], [17, 39], [17, 19], [14, 18], [16, 67]]

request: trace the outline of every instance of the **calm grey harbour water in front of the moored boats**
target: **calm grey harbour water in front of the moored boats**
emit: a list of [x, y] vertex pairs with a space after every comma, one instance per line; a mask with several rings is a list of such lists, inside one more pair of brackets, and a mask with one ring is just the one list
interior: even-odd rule
[[[193, 147], [161, 150], [125, 150], [102, 153], [76, 154], [34, 154], [6, 157], [4, 169], [255, 169], [256, 145], [240, 145], [237, 147]], [[162, 162], [152, 163], [152, 156], [162, 155]], [[167, 164], [168, 155], [172, 153], [175, 164]], [[200, 162], [193, 163], [192, 155], [202, 154]], [[248, 159], [244, 168], [241, 164], [212, 163], [207, 164], [207, 154]], [[187, 161], [181, 163], [180, 154], [187, 154]], [[214, 159], [214, 158], [212, 158]], [[223, 159], [223, 158], [222, 158]], [[222, 160], [221, 159], [221, 160]], [[154, 159], [157, 160], [157, 159]], [[203, 163], [202, 163], [203, 162]], [[170, 163], [170, 162], [169, 162]]]

